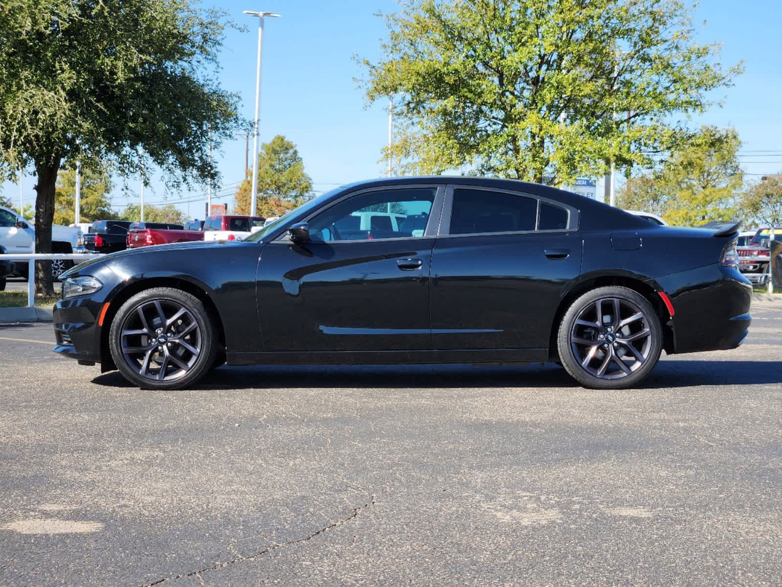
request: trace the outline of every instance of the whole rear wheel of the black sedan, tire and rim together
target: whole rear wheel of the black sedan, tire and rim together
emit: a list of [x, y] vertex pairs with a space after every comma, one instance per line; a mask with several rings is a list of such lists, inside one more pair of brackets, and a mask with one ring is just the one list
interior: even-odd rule
[[557, 349], [562, 366], [584, 387], [633, 387], [657, 365], [662, 326], [655, 308], [637, 291], [599, 287], [583, 294], [565, 312]]

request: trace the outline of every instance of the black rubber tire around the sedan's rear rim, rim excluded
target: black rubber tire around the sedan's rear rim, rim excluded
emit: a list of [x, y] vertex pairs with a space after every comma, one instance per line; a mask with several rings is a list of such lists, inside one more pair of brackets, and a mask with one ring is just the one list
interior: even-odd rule
[[[574, 322], [580, 313], [590, 304], [594, 304], [597, 300], [608, 297], [616, 297], [620, 300], [636, 304], [641, 312], [644, 313], [649, 330], [651, 330], [652, 348], [646, 363], [634, 373], [619, 379], [601, 379], [600, 377], [588, 373], [583, 369], [581, 363], [576, 360], [570, 344], [570, 333]], [[662, 325], [654, 306], [651, 305], [646, 297], [639, 294], [636, 290], [630, 290], [630, 288], [622, 286], [599, 287], [596, 290], [589, 291], [578, 297], [576, 301], [570, 305], [568, 311], [565, 312], [559, 326], [557, 348], [562, 366], [565, 367], [573, 379], [584, 387], [593, 389], [623, 389], [626, 387], [633, 387], [639, 384], [641, 380], [644, 380], [657, 365], [660, 355], [662, 354]]]

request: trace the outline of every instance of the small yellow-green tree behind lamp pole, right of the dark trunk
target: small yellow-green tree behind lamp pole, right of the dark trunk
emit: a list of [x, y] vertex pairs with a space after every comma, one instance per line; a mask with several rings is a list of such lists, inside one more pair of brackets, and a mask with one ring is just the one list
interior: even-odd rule
[[[111, 178], [106, 171], [85, 170], [81, 173], [81, 207], [82, 222], [95, 220], [111, 220], [117, 214], [111, 209], [109, 192], [113, 188]], [[74, 221], [76, 208], [76, 171], [61, 169], [57, 174], [57, 185], [54, 193], [54, 223], [69, 225]]]

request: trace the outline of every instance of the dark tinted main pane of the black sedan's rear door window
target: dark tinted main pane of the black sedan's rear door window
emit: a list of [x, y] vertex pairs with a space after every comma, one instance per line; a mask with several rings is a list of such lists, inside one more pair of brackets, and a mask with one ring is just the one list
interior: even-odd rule
[[535, 230], [537, 200], [486, 189], [454, 189], [450, 234]]

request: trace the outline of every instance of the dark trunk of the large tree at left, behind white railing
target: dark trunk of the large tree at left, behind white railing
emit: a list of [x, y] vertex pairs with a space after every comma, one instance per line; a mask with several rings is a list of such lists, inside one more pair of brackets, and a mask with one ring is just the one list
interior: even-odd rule
[[[35, 252], [52, 252], [52, 221], [54, 220], [54, 189], [57, 182], [60, 158], [47, 157], [35, 161], [38, 184], [35, 191]], [[52, 261], [38, 261], [35, 264], [35, 293], [53, 296]]]

